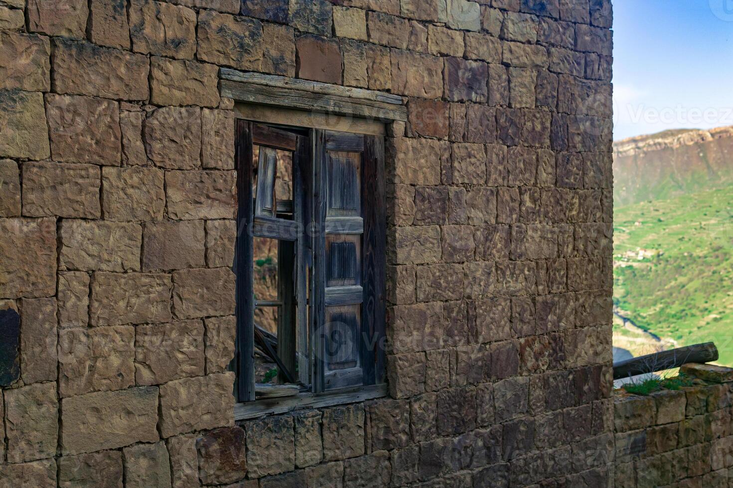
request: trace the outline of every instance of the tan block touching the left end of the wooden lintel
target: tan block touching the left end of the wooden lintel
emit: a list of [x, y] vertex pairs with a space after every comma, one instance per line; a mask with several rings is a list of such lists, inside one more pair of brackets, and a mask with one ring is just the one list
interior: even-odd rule
[[150, 102], [216, 107], [219, 104], [218, 71], [213, 64], [153, 57], [150, 61]]

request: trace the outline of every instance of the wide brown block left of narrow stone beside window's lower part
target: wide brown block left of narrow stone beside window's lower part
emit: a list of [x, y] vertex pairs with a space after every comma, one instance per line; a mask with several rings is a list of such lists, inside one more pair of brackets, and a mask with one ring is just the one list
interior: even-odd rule
[[204, 326], [201, 320], [137, 326], [135, 380], [138, 385], [204, 374]]

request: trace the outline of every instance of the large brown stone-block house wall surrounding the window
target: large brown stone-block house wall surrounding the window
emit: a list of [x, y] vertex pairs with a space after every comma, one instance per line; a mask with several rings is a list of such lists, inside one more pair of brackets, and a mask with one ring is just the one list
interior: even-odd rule
[[[611, 484], [610, 26], [609, 0], [0, 0], [0, 485]], [[404, 97], [390, 398], [235, 426], [218, 67]]]

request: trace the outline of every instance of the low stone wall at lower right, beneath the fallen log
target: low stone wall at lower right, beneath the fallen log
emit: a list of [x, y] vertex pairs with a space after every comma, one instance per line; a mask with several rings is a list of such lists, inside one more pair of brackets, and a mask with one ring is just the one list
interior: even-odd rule
[[733, 369], [682, 371], [699, 384], [616, 395], [616, 488], [733, 486]]

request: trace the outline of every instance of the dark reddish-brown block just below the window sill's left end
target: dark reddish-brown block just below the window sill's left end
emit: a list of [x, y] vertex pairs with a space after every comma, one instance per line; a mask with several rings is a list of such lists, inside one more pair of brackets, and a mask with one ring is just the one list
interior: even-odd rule
[[199, 479], [203, 484], [225, 484], [239, 481], [247, 473], [241, 427], [222, 427], [196, 439], [199, 457]]

